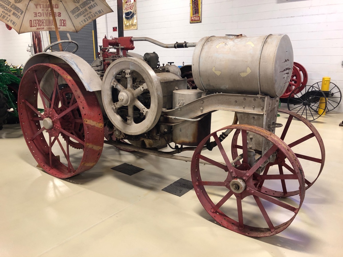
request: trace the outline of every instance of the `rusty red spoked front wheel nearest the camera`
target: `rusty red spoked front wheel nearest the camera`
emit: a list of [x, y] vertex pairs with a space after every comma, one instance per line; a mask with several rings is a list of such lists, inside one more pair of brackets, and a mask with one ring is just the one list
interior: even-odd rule
[[[223, 186], [227, 188], [227, 185], [229, 182], [233, 181], [234, 175], [239, 174], [239, 171], [232, 166], [229, 165], [229, 160], [227, 159], [227, 156], [225, 157], [222, 151], [222, 144], [220, 143], [217, 132], [222, 131], [222, 130], [227, 130], [227, 129], [238, 129], [238, 130], [243, 130], [245, 132], [251, 131], [253, 133], [256, 133], [258, 135], [263, 135], [265, 138], [268, 138], [273, 144], [280, 145], [282, 147], [285, 147], [287, 149], [286, 155], [287, 157], [292, 158], [292, 167], [295, 170], [296, 177], [299, 181], [299, 205], [298, 207], [293, 207], [288, 204], [281, 204], [281, 201], [276, 200], [276, 198], [271, 197], [269, 195], [264, 194], [263, 192], [258, 192], [257, 187], [254, 186], [254, 183], [252, 180], [253, 176], [255, 176], [255, 172], [252, 173], [253, 169], [256, 167], [253, 166], [253, 168], [249, 169], [248, 172], [245, 173], [244, 176], [249, 176], [248, 178], [243, 177], [243, 179], [246, 182], [246, 189], [242, 191], [242, 193], [236, 194], [232, 193], [231, 189], [228, 190], [228, 193], [220, 200], [218, 201], [217, 204], [213, 203], [211, 200], [210, 196], [206, 192], [206, 189], [204, 186]], [[303, 177], [303, 172], [301, 170], [301, 166], [299, 161], [297, 160], [296, 156], [294, 155], [293, 151], [277, 136], [272, 134], [271, 132], [265, 131], [261, 128], [255, 127], [255, 126], [250, 126], [250, 125], [231, 125], [224, 127], [221, 130], [218, 130], [214, 133], [211, 133], [209, 136], [203, 139], [203, 141], [199, 144], [197, 149], [194, 151], [194, 155], [192, 158], [192, 163], [191, 163], [191, 176], [192, 176], [192, 182], [194, 186], [194, 190], [198, 196], [198, 199], [200, 200], [201, 204], [205, 208], [205, 210], [214, 218], [219, 224], [221, 224], [223, 227], [232, 230], [234, 232], [247, 235], [247, 236], [253, 236], [253, 237], [263, 237], [263, 236], [271, 236], [277, 233], [280, 233], [284, 229], [286, 229], [289, 224], [293, 221], [295, 218], [296, 214], [298, 213], [301, 204], [303, 203], [304, 200], [304, 194], [305, 194], [305, 188], [304, 188], [304, 177]], [[226, 166], [223, 164], [220, 164], [212, 159], [205, 158], [204, 156], [201, 155], [201, 151], [203, 149], [203, 145], [206, 144], [207, 140], [213, 136], [215, 141], [217, 142], [218, 147], [221, 149], [223, 158], [225, 162], [227, 163]], [[246, 136], [246, 134], [245, 134]], [[245, 146], [247, 147], [247, 146]], [[271, 149], [270, 151], [267, 152], [267, 155], [269, 155], [272, 151], [274, 150]], [[224, 151], [225, 152], [225, 151]], [[226, 155], [226, 154], [225, 154]], [[265, 156], [264, 156], [265, 157]], [[244, 157], [245, 158], [245, 157]], [[268, 157], [266, 157], [268, 158]], [[201, 174], [200, 174], [200, 167], [199, 167], [199, 159], [203, 159], [206, 161], [209, 161], [210, 163], [214, 164], [218, 168], [221, 168], [223, 170], [227, 169], [227, 179], [224, 182], [219, 182], [219, 181], [202, 181], [201, 179]], [[263, 159], [261, 159], [263, 162]], [[246, 164], [244, 164], [246, 165]], [[257, 165], [258, 166], [258, 165]], [[255, 168], [254, 168], [255, 167]], [[248, 167], [250, 168], [250, 167]], [[242, 172], [242, 171], [240, 171]], [[234, 174], [235, 173], [235, 174]], [[250, 174], [249, 174], [250, 173]], [[240, 173], [241, 174], [241, 173]], [[295, 175], [292, 175], [295, 176]], [[238, 176], [240, 177], [240, 176]], [[240, 177], [241, 178], [241, 177]], [[257, 176], [258, 178], [258, 176]], [[251, 179], [251, 181], [249, 181]], [[231, 181], [230, 181], [231, 180]], [[226, 183], [226, 184], [225, 184]], [[263, 187], [262, 187], [263, 188]], [[244, 195], [242, 195], [245, 192]], [[229, 218], [224, 212], [220, 210], [220, 208], [223, 206], [223, 204], [232, 196], [236, 196], [237, 200], [237, 211], [238, 211], [238, 221], [233, 220]], [[267, 222], [268, 227], [267, 228], [260, 228], [260, 227], [252, 227], [249, 225], [244, 224], [244, 217], [243, 217], [243, 211], [242, 211], [242, 199], [244, 199], [246, 196], [253, 195], [253, 198], [256, 201], [257, 206], [259, 207], [262, 216], [264, 220]], [[262, 198], [263, 197], [263, 198]], [[294, 211], [293, 217], [291, 217], [288, 221], [283, 222], [277, 226], [274, 227], [273, 223], [271, 222], [270, 218], [268, 217], [268, 213], [266, 212], [265, 208], [263, 207], [263, 204], [261, 203], [261, 199], [267, 200], [270, 203], [273, 203], [275, 205], [282, 205], [282, 208], [288, 208], [289, 211]], [[262, 207], [260, 206], [262, 205]], [[241, 214], [239, 214], [241, 213]]]

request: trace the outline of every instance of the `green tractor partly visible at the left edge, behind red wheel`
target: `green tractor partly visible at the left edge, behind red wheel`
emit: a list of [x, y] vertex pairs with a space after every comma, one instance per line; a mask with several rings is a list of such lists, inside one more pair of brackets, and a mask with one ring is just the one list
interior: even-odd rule
[[0, 59], [0, 130], [3, 124], [18, 123], [17, 99], [22, 67]]

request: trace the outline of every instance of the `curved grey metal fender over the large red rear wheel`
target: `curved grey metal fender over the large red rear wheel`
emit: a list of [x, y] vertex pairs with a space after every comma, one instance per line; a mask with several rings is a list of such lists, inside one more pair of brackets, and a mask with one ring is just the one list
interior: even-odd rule
[[79, 76], [87, 91], [101, 90], [101, 79], [85, 60], [69, 52], [44, 52], [30, 57], [25, 63], [23, 74], [38, 63], [68, 63]]

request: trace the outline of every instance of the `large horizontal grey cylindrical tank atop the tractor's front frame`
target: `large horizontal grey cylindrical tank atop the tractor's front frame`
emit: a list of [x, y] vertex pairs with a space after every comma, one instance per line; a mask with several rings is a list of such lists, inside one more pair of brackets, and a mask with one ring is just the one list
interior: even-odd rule
[[201, 90], [281, 96], [293, 69], [289, 37], [204, 37], [193, 52], [194, 82]]

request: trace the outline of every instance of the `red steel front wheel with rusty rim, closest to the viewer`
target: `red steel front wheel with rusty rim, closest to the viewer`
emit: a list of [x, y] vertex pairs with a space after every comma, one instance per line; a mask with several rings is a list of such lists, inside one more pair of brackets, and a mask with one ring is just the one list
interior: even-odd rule
[[[239, 167], [234, 168], [230, 164], [230, 160], [228, 159], [226, 152], [220, 143], [217, 132], [227, 129], [237, 129], [242, 131], [243, 135], [243, 141], [246, 140], [247, 132], [252, 132], [255, 134], [258, 134], [260, 136], [265, 137], [266, 139], [270, 140], [273, 144], [273, 147], [271, 150], [269, 150], [265, 155], [263, 155], [253, 167], [250, 167], [248, 164], [248, 157], [247, 157], [247, 145], [245, 144], [243, 146], [243, 160]], [[214, 218], [218, 224], [222, 225], [223, 227], [232, 230], [234, 232], [237, 232], [239, 234], [243, 234], [246, 236], [253, 236], [253, 237], [263, 237], [263, 236], [271, 236], [275, 235], [277, 233], [280, 233], [284, 229], [286, 229], [291, 222], [294, 220], [295, 216], [297, 215], [303, 200], [305, 196], [305, 179], [303, 170], [301, 168], [301, 165], [294, 154], [294, 152], [289, 148], [279, 137], [275, 136], [273, 133], [263, 130], [262, 128], [251, 126], [251, 125], [230, 125], [227, 127], [224, 127], [221, 130], [218, 130], [212, 134], [210, 134], [208, 137], [204, 138], [203, 141], [199, 144], [197, 149], [194, 151], [194, 155], [192, 158], [191, 163], [191, 177], [192, 182], [194, 186], [194, 190], [205, 208], [205, 210]], [[206, 158], [204, 153], [202, 153], [203, 146], [205, 143], [210, 139], [210, 137], [213, 137], [214, 140], [217, 142], [217, 145], [221, 151], [221, 154], [223, 156], [223, 159], [226, 162], [226, 165], [222, 165], [218, 163], [217, 161], [212, 160], [211, 158]], [[271, 197], [268, 194], [265, 194], [263, 190], [261, 190], [258, 187], [259, 182], [261, 181], [260, 175], [256, 172], [258, 168], [260, 167], [261, 163], [263, 163], [265, 160], [267, 160], [275, 150], [280, 150], [285, 156], [285, 158], [288, 159], [290, 165], [292, 166], [294, 173], [291, 176], [284, 175], [282, 176], [282, 179], [292, 179], [298, 182], [299, 185], [299, 197], [300, 201], [296, 204], [296, 207], [291, 206], [281, 200], [278, 200], [277, 198]], [[217, 166], [218, 168], [223, 169], [223, 171], [227, 172], [227, 177], [224, 181], [203, 181], [201, 179], [201, 168], [202, 166], [199, 166], [199, 160], [206, 160], [213, 165]], [[281, 176], [281, 175], [280, 175]], [[281, 178], [281, 177], [280, 177]], [[234, 179], [239, 179], [240, 183], [231, 183]], [[267, 179], [275, 179], [274, 177], [267, 177], [265, 176], [263, 178], [264, 180]], [[242, 187], [242, 185], [245, 187]], [[206, 187], [205, 187], [206, 186]], [[212, 201], [211, 192], [215, 190], [216, 187], [222, 187], [223, 189], [227, 188], [227, 193], [223, 194], [223, 191], [220, 191], [222, 195], [222, 199], [217, 203]], [[243, 190], [240, 188], [244, 188]], [[209, 191], [206, 191], [208, 189]], [[235, 189], [235, 190], [234, 190]], [[240, 193], [235, 193], [240, 192]], [[208, 193], [209, 192], [209, 193]], [[212, 192], [213, 193], [213, 192]], [[215, 196], [217, 194], [213, 193]], [[233, 206], [225, 206], [223, 209], [222, 206], [226, 203], [226, 201], [232, 197], [236, 197], [236, 205]], [[268, 227], [264, 228], [265, 222], [261, 226], [256, 225], [256, 227], [252, 227], [250, 225], [245, 224], [244, 220], [244, 212], [242, 210], [242, 202], [245, 197], [247, 196], [253, 196], [253, 198], [256, 201], [256, 205], [261, 211], [261, 215], [264, 218], [264, 221], [267, 222]], [[294, 215], [291, 218], [286, 218], [285, 222], [281, 224], [274, 224], [271, 219], [268, 216], [269, 208], [265, 208], [261, 202], [261, 199], [264, 199], [268, 201], [268, 204], [271, 206], [279, 206], [283, 208], [284, 211], [289, 211], [290, 213], [294, 213]], [[232, 203], [232, 202], [231, 202]], [[251, 203], [251, 201], [250, 201]], [[230, 211], [227, 211], [227, 208], [230, 208], [230, 211], [233, 209], [237, 209], [238, 212], [238, 220], [234, 220], [230, 218], [228, 213]], [[233, 210], [235, 211], [235, 210]]]

